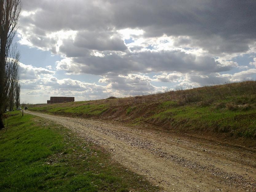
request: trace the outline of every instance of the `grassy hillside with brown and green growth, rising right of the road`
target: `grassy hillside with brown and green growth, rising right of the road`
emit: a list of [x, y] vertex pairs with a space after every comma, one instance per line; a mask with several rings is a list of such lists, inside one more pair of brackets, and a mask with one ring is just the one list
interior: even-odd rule
[[30, 110], [64, 116], [151, 123], [167, 130], [256, 139], [256, 81], [226, 83], [127, 98], [37, 104]]

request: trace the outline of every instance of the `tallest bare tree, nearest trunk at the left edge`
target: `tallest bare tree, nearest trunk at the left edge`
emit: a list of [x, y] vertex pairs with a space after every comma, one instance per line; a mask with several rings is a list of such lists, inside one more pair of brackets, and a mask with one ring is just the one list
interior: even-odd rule
[[21, 0], [0, 0], [0, 129], [4, 128], [3, 111], [11, 84], [12, 65], [7, 60], [14, 54], [11, 45], [20, 12]]

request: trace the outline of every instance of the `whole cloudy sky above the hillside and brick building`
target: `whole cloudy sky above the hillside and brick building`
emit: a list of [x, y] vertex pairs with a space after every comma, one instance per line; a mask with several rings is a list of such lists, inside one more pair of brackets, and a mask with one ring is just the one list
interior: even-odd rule
[[22, 0], [21, 101], [256, 79], [255, 0]]

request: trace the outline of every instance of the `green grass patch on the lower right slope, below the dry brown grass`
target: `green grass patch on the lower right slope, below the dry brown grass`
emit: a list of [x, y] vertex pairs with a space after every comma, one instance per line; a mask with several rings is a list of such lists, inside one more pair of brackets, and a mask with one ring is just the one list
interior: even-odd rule
[[[163, 104], [165, 106], [165, 104]], [[255, 137], [256, 109], [248, 111], [213, 109], [212, 107], [180, 106], [165, 108], [147, 120], [169, 122], [170, 127], [180, 130], [209, 130], [230, 132], [231, 135]]]

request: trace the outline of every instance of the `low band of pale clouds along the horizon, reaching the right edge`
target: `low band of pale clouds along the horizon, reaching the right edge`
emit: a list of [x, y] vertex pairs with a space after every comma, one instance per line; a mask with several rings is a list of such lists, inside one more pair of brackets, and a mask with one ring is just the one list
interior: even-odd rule
[[[170, 88], [155, 86], [154, 82], [171, 82], [183, 88], [199, 87], [224, 82], [250, 80], [256, 76], [256, 69], [248, 69], [234, 74], [220, 74], [213, 72], [202, 75], [200, 73], [162, 73], [152, 78], [143, 74], [112, 75], [108, 74], [99, 79], [99, 83], [86, 83], [71, 78], [58, 79], [55, 72], [44, 68], [36, 68], [20, 63], [21, 86], [23, 98], [33, 96], [30, 102], [37, 102], [37, 97], [75, 96], [76, 100], [102, 99], [110, 95], [127, 96], [156, 93]], [[26, 94], [24, 94], [26, 92]], [[24, 99], [23, 99], [24, 100]], [[46, 102], [47, 98], [44, 102]], [[42, 102], [42, 101], [41, 101]]]

